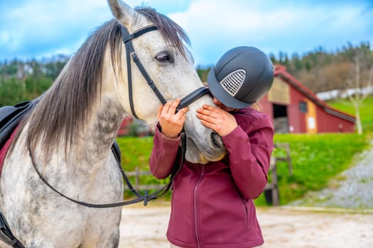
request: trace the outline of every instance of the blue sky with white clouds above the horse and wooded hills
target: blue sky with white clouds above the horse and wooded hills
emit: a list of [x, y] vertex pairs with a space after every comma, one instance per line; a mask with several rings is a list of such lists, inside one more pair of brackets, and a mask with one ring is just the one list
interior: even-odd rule
[[[322, 47], [373, 47], [373, 0], [126, 0], [151, 6], [188, 34], [195, 64], [210, 67], [229, 49], [306, 55]], [[113, 18], [105, 0], [1, 0], [0, 61], [72, 55]]]

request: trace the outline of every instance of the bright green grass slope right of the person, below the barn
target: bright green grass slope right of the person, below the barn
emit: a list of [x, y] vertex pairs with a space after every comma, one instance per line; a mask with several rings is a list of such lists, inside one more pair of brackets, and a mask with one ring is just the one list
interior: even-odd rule
[[[293, 175], [288, 164], [278, 162], [280, 203], [286, 204], [301, 198], [308, 191], [317, 191], [328, 185], [329, 179], [353, 165], [355, 154], [367, 145], [367, 136], [346, 133], [318, 135], [275, 135], [275, 142], [286, 142], [291, 148]], [[283, 150], [275, 150], [283, 156]], [[256, 205], [266, 205], [263, 196]]]

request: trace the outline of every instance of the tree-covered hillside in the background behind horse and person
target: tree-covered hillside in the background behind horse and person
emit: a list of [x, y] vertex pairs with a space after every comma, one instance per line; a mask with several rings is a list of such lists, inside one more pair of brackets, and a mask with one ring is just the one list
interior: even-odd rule
[[[272, 62], [283, 64], [288, 72], [315, 93], [333, 89], [364, 88], [372, 85], [373, 51], [369, 43], [348, 43], [335, 52], [323, 47], [299, 55], [279, 52], [269, 54]], [[55, 55], [36, 60], [0, 62], [0, 106], [36, 98], [47, 90], [63, 69], [69, 57]], [[210, 66], [211, 67], [211, 66]], [[198, 75], [206, 81], [209, 66], [198, 65]]]

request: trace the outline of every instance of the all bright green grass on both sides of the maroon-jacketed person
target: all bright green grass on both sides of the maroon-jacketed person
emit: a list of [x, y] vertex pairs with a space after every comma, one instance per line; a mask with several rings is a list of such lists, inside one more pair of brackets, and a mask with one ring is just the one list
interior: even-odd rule
[[[353, 108], [342, 101], [329, 103], [347, 113], [354, 113]], [[373, 137], [373, 97], [367, 98], [362, 106], [363, 135], [355, 133], [328, 133], [318, 135], [276, 134], [275, 142], [286, 142], [291, 147], [293, 175], [289, 176], [288, 166], [279, 162], [279, 192], [281, 205], [295, 201], [308, 191], [317, 191], [328, 185], [328, 181], [343, 170], [354, 165], [353, 158], [369, 145]], [[124, 171], [148, 169], [148, 158], [153, 137], [118, 137], [121, 147], [121, 160]], [[283, 154], [275, 150], [274, 155]], [[153, 176], [141, 177], [141, 184], [165, 184]], [[166, 196], [168, 199], [168, 196]], [[256, 205], [266, 205], [264, 196], [255, 200]]]

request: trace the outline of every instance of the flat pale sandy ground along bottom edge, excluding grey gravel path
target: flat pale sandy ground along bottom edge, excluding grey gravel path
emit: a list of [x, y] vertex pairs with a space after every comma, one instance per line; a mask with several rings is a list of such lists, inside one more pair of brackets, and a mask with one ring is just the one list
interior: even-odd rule
[[[124, 207], [119, 247], [168, 248], [169, 213], [168, 203]], [[373, 210], [271, 207], [257, 214], [266, 248], [373, 247]]]

